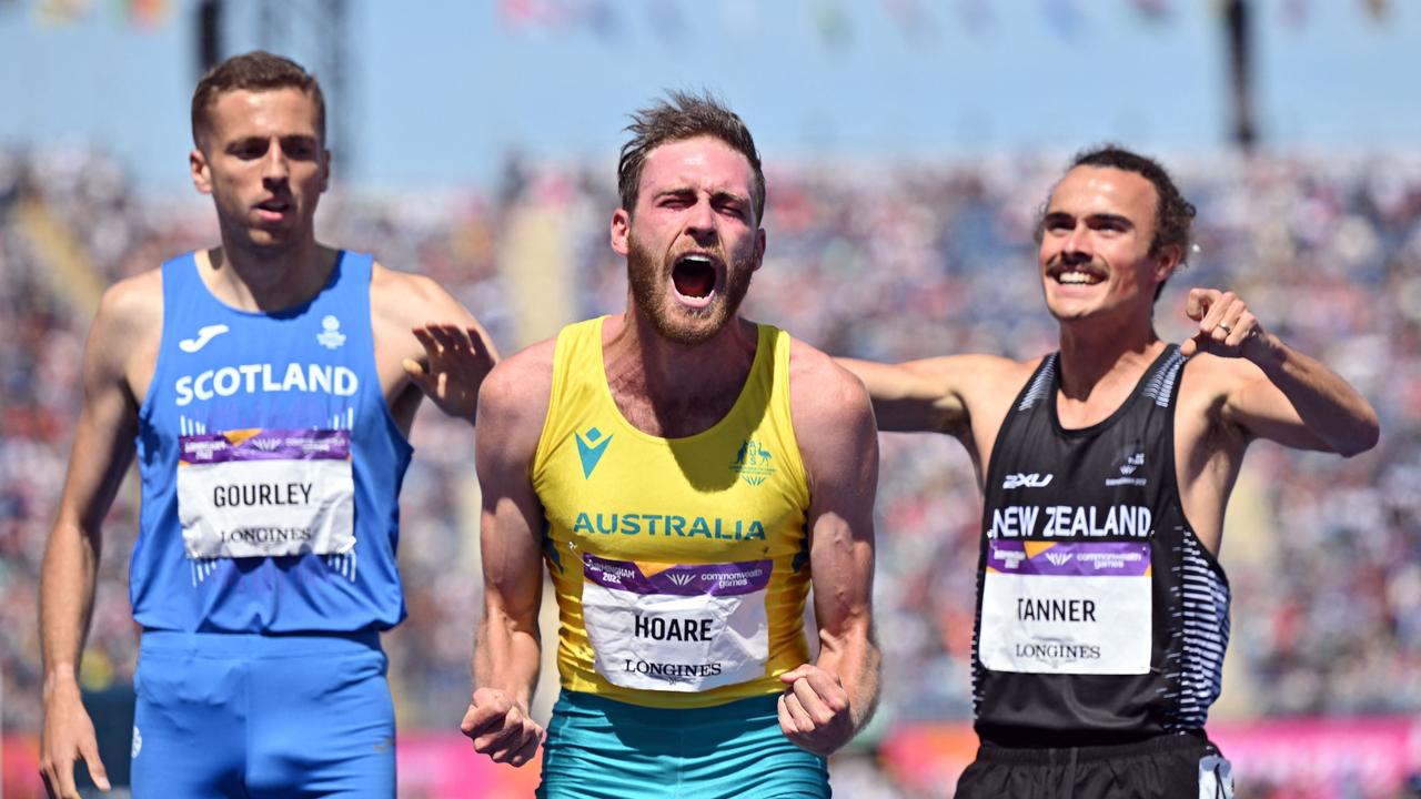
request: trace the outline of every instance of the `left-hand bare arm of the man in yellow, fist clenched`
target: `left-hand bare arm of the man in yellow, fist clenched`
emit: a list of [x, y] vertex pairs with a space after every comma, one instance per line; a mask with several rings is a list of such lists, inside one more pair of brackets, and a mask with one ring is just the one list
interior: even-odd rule
[[537, 682], [543, 597], [543, 510], [529, 466], [551, 385], [551, 347], [536, 345], [500, 364], [479, 407], [475, 461], [483, 489], [483, 617], [475, 640], [475, 694], [460, 729], [475, 751], [523, 765], [543, 731], [527, 718]]

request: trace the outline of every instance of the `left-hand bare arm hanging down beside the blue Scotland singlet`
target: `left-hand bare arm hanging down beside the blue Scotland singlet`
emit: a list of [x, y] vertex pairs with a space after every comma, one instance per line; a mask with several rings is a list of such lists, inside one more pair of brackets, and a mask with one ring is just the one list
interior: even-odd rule
[[[88, 763], [97, 783], [107, 782], [75, 671], [94, 608], [102, 549], [99, 526], [134, 459], [138, 402], [128, 364], [135, 353], [146, 355], [155, 348], [153, 336], [162, 324], [161, 297], [161, 284], [152, 276], [115, 286], [104, 296], [85, 345], [84, 404], [40, 570], [41, 769], [57, 796], [77, 796], [72, 778], [77, 759]], [[149, 358], [149, 368], [151, 363]]]

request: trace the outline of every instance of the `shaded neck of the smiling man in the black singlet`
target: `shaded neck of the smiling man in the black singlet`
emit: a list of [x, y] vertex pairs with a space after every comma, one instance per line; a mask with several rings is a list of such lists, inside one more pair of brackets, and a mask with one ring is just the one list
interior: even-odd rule
[[1164, 347], [1148, 318], [1125, 324], [1063, 320], [1060, 330], [1060, 381], [1067, 400], [1088, 400], [1113, 377], [1133, 381]]

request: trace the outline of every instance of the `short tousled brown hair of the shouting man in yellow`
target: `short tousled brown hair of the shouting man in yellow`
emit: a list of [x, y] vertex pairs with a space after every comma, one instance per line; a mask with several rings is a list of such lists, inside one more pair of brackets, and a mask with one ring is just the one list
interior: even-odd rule
[[631, 125], [625, 129], [632, 138], [622, 145], [617, 162], [617, 191], [627, 213], [637, 208], [641, 171], [651, 151], [668, 142], [715, 136], [750, 162], [750, 169], [755, 171], [755, 185], [750, 188], [755, 219], [764, 219], [764, 172], [760, 169], [760, 154], [755, 149], [750, 129], [709, 92], [668, 91], [666, 100], [631, 114]]

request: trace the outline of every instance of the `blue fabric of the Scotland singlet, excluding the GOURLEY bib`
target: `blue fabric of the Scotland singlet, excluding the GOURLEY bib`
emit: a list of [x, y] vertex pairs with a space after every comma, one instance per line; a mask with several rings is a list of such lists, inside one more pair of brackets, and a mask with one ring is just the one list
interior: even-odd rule
[[[371, 264], [368, 254], [342, 252], [314, 299], [271, 314], [220, 303], [192, 253], [163, 264], [162, 344], [136, 435], [144, 500], [129, 599], [145, 628], [354, 631], [389, 628], [405, 617], [395, 547], [412, 451], [375, 371]], [[283, 382], [288, 368], [344, 381]], [[179, 436], [249, 428], [350, 431], [351, 552], [188, 557], [178, 520]]]

